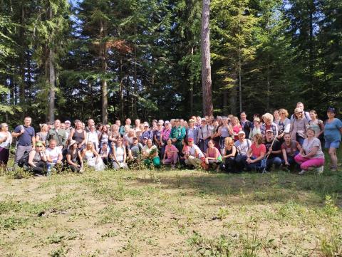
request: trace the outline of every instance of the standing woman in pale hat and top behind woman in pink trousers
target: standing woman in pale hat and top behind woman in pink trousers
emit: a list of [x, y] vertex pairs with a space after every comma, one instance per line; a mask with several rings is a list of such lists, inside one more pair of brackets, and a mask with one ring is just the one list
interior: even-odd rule
[[306, 138], [306, 128], [309, 125], [309, 120], [303, 116], [303, 111], [300, 108], [294, 109], [295, 118], [291, 120], [291, 139], [299, 142], [299, 145], [303, 145]]

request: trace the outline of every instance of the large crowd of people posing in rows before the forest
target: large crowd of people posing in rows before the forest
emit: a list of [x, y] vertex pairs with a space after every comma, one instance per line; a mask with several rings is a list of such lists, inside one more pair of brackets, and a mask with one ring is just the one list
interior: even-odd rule
[[285, 109], [273, 114], [254, 114], [252, 120], [242, 112], [239, 117], [196, 117], [189, 120], [152, 120], [134, 125], [130, 118], [108, 125], [87, 124], [75, 120], [40, 125], [35, 132], [31, 117], [9, 132], [0, 127], [0, 165], [6, 171], [12, 138], [16, 137], [14, 167], [37, 175], [51, 174], [53, 169], [83, 172], [83, 167], [103, 170], [128, 169], [136, 164], [147, 168], [170, 165], [202, 167], [224, 172], [262, 171], [272, 168], [298, 169], [305, 174], [314, 169], [323, 172], [322, 144], [328, 150], [330, 169], [336, 171], [336, 150], [341, 142], [342, 122], [329, 107], [323, 122], [317, 112], [306, 112], [297, 103], [291, 116]]

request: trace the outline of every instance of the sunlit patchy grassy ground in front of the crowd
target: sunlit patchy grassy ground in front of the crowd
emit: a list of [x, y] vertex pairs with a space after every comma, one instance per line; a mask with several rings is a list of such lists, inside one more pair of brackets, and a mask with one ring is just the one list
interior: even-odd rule
[[342, 256], [342, 172], [0, 177], [0, 256]]

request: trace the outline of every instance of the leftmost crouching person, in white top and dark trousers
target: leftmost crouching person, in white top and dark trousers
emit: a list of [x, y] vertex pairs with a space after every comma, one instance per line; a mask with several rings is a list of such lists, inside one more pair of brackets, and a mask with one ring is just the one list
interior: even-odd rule
[[31, 172], [43, 174], [46, 169], [47, 160], [42, 142], [36, 142], [35, 149], [28, 154], [28, 169], [31, 170]]

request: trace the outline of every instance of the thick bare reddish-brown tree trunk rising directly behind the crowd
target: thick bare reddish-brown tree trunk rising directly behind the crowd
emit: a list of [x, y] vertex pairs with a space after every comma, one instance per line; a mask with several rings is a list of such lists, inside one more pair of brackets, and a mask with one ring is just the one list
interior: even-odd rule
[[202, 29], [201, 29], [201, 49], [202, 49], [202, 93], [203, 93], [203, 115], [212, 115], [212, 75], [210, 66], [210, 0], [203, 0], [202, 7]]

